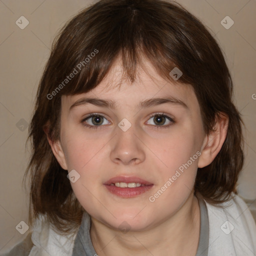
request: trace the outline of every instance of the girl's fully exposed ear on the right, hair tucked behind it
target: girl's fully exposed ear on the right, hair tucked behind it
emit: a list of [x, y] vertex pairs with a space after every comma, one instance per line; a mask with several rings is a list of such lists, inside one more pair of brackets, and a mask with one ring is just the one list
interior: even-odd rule
[[228, 127], [228, 116], [222, 112], [219, 115], [215, 119], [214, 131], [211, 131], [209, 135], [204, 137], [201, 155], [198, 160], [198, 168], [209, 165], [224, 143]]

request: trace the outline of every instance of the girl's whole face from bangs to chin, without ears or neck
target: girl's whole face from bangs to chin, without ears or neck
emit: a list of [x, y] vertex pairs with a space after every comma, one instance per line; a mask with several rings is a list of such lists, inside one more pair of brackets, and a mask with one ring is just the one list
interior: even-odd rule
[[[126, 221], [132, 230], [145, 230], [171, 217], [191, 194], [202, 120], [190, 85], [166, 82], [149, 64], [139, 81], [114, 86], [120, 77], [116, 64], [91, 91], [62, 96], [58, 161], [80, 175], [71, 186], [93, 218], [113, 228]], [[111, 100], [115, 107], [84, 97]], [[172, 102], [139, 105], [154, 98]], [[145, 185], [110, 184], [118, 181]]]

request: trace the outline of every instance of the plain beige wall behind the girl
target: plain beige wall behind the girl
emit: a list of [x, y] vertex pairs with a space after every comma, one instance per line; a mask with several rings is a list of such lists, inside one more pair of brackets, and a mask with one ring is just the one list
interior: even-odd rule
[[[34, 97], [56, 32], [91, 0], [0, 0], [0, 253], [26, 235], [15, 226], [28, 218], [28, 193], [21, 184]], [[239, 194], [256, 219], [255, 0], [178, 0], [210, 29], [225, 52], [234, 82], [234, 102], [246, 125], [246, 158]], [[231, 17], [224, 28], [220, 21]], [[29, 24], [20, 29], [15, 21]], [[254, 95], [254, 96], [253, 96]], [[254, 97], [254, 99], [253, 99]], [[20, 120], [21, 119], [21, 120]], [[18, 123], [18, 124], [17, 124]], [[22, 126], [23, 125], [23, 126]], [[250, 201], [249, 201], [250, 200]]]

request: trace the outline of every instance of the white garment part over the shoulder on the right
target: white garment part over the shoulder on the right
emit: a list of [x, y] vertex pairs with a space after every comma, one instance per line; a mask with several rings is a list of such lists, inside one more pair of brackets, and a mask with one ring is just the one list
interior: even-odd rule
[[218, 206], [205, 201], [209, 221], [209, 256], [255, 255], [256, 224], [252, 214], [239, 195]]

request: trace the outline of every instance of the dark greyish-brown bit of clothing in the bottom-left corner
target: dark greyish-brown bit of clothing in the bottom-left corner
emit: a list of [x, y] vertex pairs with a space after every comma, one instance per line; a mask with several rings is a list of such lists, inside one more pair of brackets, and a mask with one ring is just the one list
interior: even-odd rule
[[22, 241], [14, 245], [8, 252], [0, 254], [0, 256], [28, 256], [33, 247], [31, 235], [32, 233], [29, 232]]

